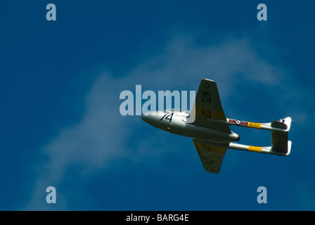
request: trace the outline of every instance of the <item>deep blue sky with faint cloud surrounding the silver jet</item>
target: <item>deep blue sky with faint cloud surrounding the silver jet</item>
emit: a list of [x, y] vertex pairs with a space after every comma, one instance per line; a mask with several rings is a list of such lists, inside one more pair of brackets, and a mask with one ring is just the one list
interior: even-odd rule
[[[56, 21], [46, 20], [49, 3]], [[315, 210], [313, 8], [1, 1], [0, 210]], [[197, 91], [202, 78], [217, 82], [227, 117], [291, 116], [291, 154], [228, 150], [210, 174], [191, 139], [120, 115], [120, 92], [136, 84]], [[232, 130], [240, 143], [270, 146], [268, 131]]]

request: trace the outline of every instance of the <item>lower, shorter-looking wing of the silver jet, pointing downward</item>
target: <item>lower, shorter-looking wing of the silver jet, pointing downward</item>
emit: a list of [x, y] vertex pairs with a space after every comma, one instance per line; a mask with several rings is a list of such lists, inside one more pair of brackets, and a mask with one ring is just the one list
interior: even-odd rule
[[195, 149], [203, 163], [205, 171], [219, 174], [227, 148], [211, 146], [211, 143], [205, 143], [197, 139], [193, 139], [193, 144], [195, 145]]

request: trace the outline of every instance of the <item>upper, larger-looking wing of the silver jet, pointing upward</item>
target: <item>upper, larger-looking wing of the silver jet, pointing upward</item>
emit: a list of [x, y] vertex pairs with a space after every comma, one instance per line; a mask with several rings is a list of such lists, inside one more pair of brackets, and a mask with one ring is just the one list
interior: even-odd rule
[[189, 120], [188, 122], [196, 126], [231, 132], [229, 124], [215, 122], [226, 121], [226, 116], [221, 105], [217, 83], [210, 79], [201, 80], [190, 117], [189, 120], [193, 122]]

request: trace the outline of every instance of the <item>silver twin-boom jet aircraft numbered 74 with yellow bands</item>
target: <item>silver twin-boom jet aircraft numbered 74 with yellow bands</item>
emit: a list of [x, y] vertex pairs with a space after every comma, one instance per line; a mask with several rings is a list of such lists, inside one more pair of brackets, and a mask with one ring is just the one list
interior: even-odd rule
[[[291, 118], [256, 123], [226, 118], [221, 106], [216, 82], [202, 79], [191, 113], [169, 109], [144, 113], [142, 120], [164, 131], [193, 139], [205, 171], [219, 174], [227, 148], [248, 150], [273, 155], [289, 155], [291, 141], [288, 141]], [[266, 129], [271, 131], [271, 146], [246, 146], [238, 142], [240, 136], [230, 125]]]

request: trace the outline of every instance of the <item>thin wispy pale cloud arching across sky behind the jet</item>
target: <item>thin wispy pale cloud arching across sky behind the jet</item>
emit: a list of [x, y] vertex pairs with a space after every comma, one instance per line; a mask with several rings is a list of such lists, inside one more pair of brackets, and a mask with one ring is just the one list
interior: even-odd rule
[[[99, 72], [91, 92], [86, 96], [86, 113], [82, 120], [73, 127], [64, 127], [44, 146], [42, 151], [48, 160], [38, 166], [38, 178], [25, 209], [51, 209], [45, 202], [44, 191], [47, 186], [55, 186], [57, 192], [63, 195], [63, 198], [57, 199], [63, 199], [63, 203], [57, 206], [58, 210], [71, 210], [67, 202], [71, 200], [73, 203], [76, 196], [82, 195], [79, 192], [84, 191], [84, 188], [78, 187], [79, 181], [72, 181], [67, 174], [73, 166], [82, 176], [96, 174], [98, 169], [113, 165], [113, 160], [117, 163], [122, 158], [141, 161], [150, 154], [162, 155], [172, 147], [166, 146], [159, 153], [147, 151], [158, 146], [160, 140], [148, 138], [150, 134], [139, 129], [139, 123], [142, 123], [140, 117], [120, 115], [120, 91], [133, 91], [136, 84], [141, 84], [143, 89], [196, 91], [202, 78], [218, 82], [222, 99], [248, 95], [238, 85], [245, 81], [279, 89], [280, 95], [286, 89], [280, 82], [285, 78], [281, 68], [259, 58], [246, 38], [229, 38], [229, 41], [200, 47], [195, 44], [193, 36], [174, 35], [162, 53], [139, 63], [124, 77], [117, 78], [106, 70]], [[233, 110], [229, 105], [224, 106], [226, 110]], [[135, 132], [147, 139], [136, 139], [137, 143], [130, 146]], [[70, 186], [75, 184], [70, 196], [58, 188], [67, 180], [73, 182]]]

